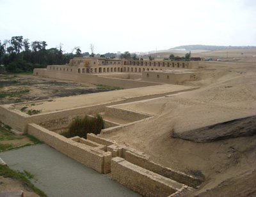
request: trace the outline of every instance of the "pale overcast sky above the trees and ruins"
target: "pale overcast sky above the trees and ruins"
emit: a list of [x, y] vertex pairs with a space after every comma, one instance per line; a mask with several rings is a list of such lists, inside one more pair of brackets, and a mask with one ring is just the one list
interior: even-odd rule
[[0, 40], [12, 36], [96, 54], [256, 46], [256, 0], [0, 0]]

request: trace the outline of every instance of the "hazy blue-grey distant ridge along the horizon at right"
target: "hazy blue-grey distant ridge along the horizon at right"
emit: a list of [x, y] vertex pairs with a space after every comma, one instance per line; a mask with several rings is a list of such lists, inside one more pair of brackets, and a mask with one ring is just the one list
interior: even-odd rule
[[214, 46], [214, 45], [184, 45], [179, 47], [170, 48], [173, 50], [186, 49], [186, 50], [227, 50], [227, 49], [241, 49], [241, 48], [254, 48], [255, 46]]

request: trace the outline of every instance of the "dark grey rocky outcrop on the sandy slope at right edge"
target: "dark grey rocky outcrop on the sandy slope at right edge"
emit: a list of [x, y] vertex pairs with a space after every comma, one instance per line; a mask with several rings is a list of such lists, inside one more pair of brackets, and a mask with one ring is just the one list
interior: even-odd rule
[[243, 119], [235, 119], [227, 122], [205, 126], [204, 128], [190, 131], [173, 131], [173, 138], [181, 138], [193, 142], [212, 142], [241, 136], [253, 136], [256, 134], [256, 115]]

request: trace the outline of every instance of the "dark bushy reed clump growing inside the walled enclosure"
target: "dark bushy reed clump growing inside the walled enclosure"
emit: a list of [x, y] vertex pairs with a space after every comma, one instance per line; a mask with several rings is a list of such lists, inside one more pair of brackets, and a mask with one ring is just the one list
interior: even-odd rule
[[76, 117], [68, 126], [67, 131], [63, 133], [63, 136], [67, 138], [79, 136], [86, 139], [87, 133], [97, 135], [104, 128], [104, 120], [99, 114], [95, 117], [88, 117], [86, 115], [84, 118]]

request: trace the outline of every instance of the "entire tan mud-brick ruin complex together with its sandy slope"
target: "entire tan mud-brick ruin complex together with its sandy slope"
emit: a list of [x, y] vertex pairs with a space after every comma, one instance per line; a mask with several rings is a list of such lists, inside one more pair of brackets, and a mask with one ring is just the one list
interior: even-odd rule
[[[253, 196], [255, 66], [76, 57], [33, 75], [119, 89], [0, 105], [0, 120], [142, 196]], [[99, 135], [60, 135], [96, 114]]]

